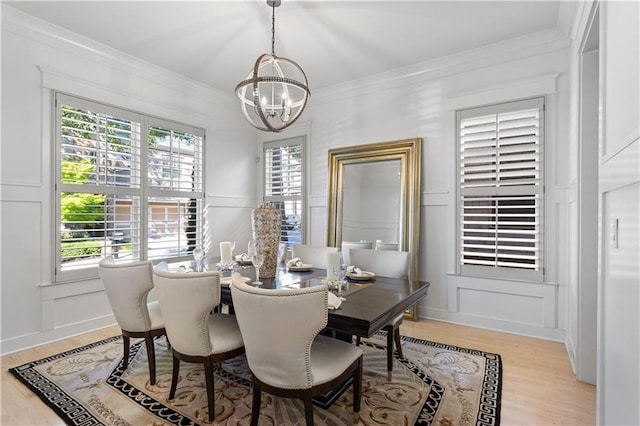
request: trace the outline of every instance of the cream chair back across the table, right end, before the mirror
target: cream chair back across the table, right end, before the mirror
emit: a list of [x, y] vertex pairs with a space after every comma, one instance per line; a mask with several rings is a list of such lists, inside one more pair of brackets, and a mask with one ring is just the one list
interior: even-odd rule
[[363, 271], [389, 278], [410, 278], [411, 253], [408, 251], [351, 249], [351, 263]]

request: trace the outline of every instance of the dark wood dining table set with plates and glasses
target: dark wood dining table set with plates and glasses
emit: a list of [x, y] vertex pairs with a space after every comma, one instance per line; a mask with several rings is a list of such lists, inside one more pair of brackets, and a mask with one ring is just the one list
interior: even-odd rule
[[[206, 265], [214, 269], [214, 264]], [[228, 277], [232, 272], [255, 279], [252, 265], [235, 265], [233, 270], [222, 272]], [[288, 271], [279, 265], [275, 278], [262, 278], [262, 288], [296, 288], [323, 285], [326, 278], [324, 269], [313, 268], [305, 272]], [[368, 281], [348, 280], [344, 288], [344, 299], [338, 309], [329, 310], [327, 328], [345, 335], [371, 337], [391, 319], [406, 312], [427, 295], [429, 283], [376, 276]], [[231, 290], [223, 286], [222, 303], [233, 306]]]

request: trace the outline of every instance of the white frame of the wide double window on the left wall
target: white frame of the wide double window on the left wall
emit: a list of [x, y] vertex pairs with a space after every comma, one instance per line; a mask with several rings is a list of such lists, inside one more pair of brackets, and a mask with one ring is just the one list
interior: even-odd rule
[[[204, 233], [203, 230], [205, 228], [205, 220], [206, 220], [206, 209], [205, 209], [205, 147], [206, 147], [206, 133], [203, 128], [198, 128], [196, 126], [183, 124], [176, 122], [174, 120], [163, 119], [159, 117], [155, 117], [152, 115], [144, 114], [141, 112], [132, 111], [127, 108], [117, 107], [109, 104], [105, 104], [103, 102], [94, 101], [91, 99], [82, 98], [75, 95], [66, 94], [63, 92], [54, 91], [53, 92], [53, 109], [54, 109], [54, 138], [55, 138], [55, 153], [53, 155], [54, 167], [52, 167], [54, 176], [54, 191], [53, 191], [53, 206], [54, 206], [54, 215], [53, 215], [53, 282], [54, 283], [64, 283], [64, 282], [72, 282], [72, 281], [80, 281], [93, 279], [98, 277], [98, 268], [97, 261], [92, 262], [90, 266], [80, 267], [80, 268], [68, 268], [67, 270], [63, 270], [63, 262], [62, 262], [62, 194], [64, 192], [77, 192], [77, 193], [88, 193], [87, 190], [93, 189], [93, 193], [96, 194], [106, 194], [106, 195], [130, 195], [132, 197], [136, 197], [139, 199], [139, 212], [137, 225], [139, 229], [132, 230], [132, 238], [136, 239], [136, 245], [139, 246], [139, 249], [136, 251], [132, 249], [132, 255], [128, 258], [128, 261], [138, 261], [138, 260], [146, 260], [150, 258], [149, 253], [149, 235], [150, 231], [148, 228], [149, 225], [149, 206], [150, 199], [153, 196], [156, 197], [164, 197], [169, 202], [175, 201], [178, 206], [184, 206], [184, 201], [180, 199], [188, 198], [196, 200], [196, 209], [198, 213], [197, 225], [196, 225], [196, 246], [200, 246], [204, 242]], [[70, 184], [65, 184], [62, 182], [62, 163], [63, 163], [63, 155], [62, 155], [62, 105], [70, 106], [73, 108], [78, 108], [85, 111], [94, 112], [97, 114], [104, 114], [115, 118], [126, 119], [131, 122], [135, 122], [138, 126], [139, 136], [137, 140], [132, 139], [132, 149], [135, 149], [136, 156], [140, 162], [139, 167], [136, 170], [136, 173], [139, 173], [137, 177], [137, 185], [134, 186], [109, 186], [109, 185], [100, 185], [100, 184], [80, 184], [80, 186], [74, 187]], [[199, 183], [199, 191], [175, 191], [175, 190], [163, 190], [163, 189], [150, 189], [149, 184], [149, 130], [152, 127], [161, 128], [164, 130], [168, 130], [170, 132], [184, 133], [188, 135], [195, 136], [196, 140], [200, 144], [197, 147], [197, 153], [194, 154], [194, 159], [196, 161], [196, 165], [194, 169], [199, 169], [200, 173], [200, 183]], [[134, 145], [134, 142], [135, 145]], [[111, 152], [111, 151], [109, 151]], [[70, 191], [71, 190], [71, 191]], [[182, 217], [182, 215], [180, 216]], [[117, 221], [117, 220], [116, 220]], [[135, 223], [135, 222], [134, 222]], [[182, 219], [177, 220], [178, 224], [182, 223]], [[104, 232], [104, 231], [103, 231]], [[186, 231], [185, 231], [186, 232]], [[107, 237], [105, 237], [106, 239]], [[177, 243], [177, 247], [189, 249], [187, 244], [183, 244], [182, 240]], [[102, 255], [105, 255], [106, 245], [102, 243]], [[181, 250], [182, 251], [182, 250]], [[153, 260], [186, 260], [190, 257], [188, 253], [180, 254], [178, 256], [168, 256], [168, 257], [153, 257]], [[126, 261], [126, 260], [123, 260]]]

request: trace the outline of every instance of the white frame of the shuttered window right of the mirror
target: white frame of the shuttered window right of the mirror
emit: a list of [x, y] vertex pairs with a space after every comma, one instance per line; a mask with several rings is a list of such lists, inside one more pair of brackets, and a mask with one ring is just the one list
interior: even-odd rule
[[[519, 100], [510, 100], [499, 102], [490, 105], [478, 106], [478, 107], [465, 107], [456, 110], [455, 112], [455, 140], [456, 140], [456, 160], [455, 160], [455, 187], [456, 187], [456, 271], [460, 275], [473, 276], [478, 278], [495, 278], [495, 279], [508, 279], [508, 280], [520, 280], [529, 282], [544, 282], [545, 280], [545, 249], [546, 249], [546, 235], [545, 229], [547, 221], [546, 212], [546, 172], [547, 172], [547, 160], [546, 160], [546, 144], [547, 144], [547, 129], [548, 122], [546, 117], [546, 105], [547, 99], [545, 96], [536, 96], [532, 98], [525, 98]], [[531, 186], [525, 188], [525, 191], [518, 191], [519, 187], [525, 187], [520, 185], [504, 186], [502, 189], [491, 188], [487, 186], [484, 191], [479, 191], [485, 194], [487, 198], [497, 196], [513, 196], [513, 195], [533, 195], [538, 197], [539, 203], [536, 205], [536, 217], [539, 218], [539, 223], [536, 227], [536, 235], [538, 241], [536, 244], [537, 261], [539, 267], [535, 270], [518, 268], [518, 267], [501, 267], [501, 266], [484, 266], [484, 265], [472, 265], [463, 263], [463, 236], [462, 236], [462, 216], [463, 216], [463, 189], [461, 182], [462, 175], [462, 159], [461, 159], [461, 120], [464, 118], [481, 117], [485, 115], [498, 115], [514, 111], [521, 111], [526, 109], [538, 108], [540, 111], [540, 143], [538, 163], [540, 165], [540, 177], [539, 184], [536, 185], [534, 190], [531, 190]], [[499, 185], [498, 185], [499, 186]], [[471, 196], [468, 194], [467, 196]]]

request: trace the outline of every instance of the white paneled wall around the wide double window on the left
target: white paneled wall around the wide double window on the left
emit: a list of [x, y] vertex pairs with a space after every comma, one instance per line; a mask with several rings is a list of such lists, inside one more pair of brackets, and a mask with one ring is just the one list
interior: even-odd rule
[[230, 96], [3, 4], [3, 353], [114, 323], [100, 280], [52, 284], [53, 90], [205, 128], [209, 236], [251, 230], [256, 138]]

